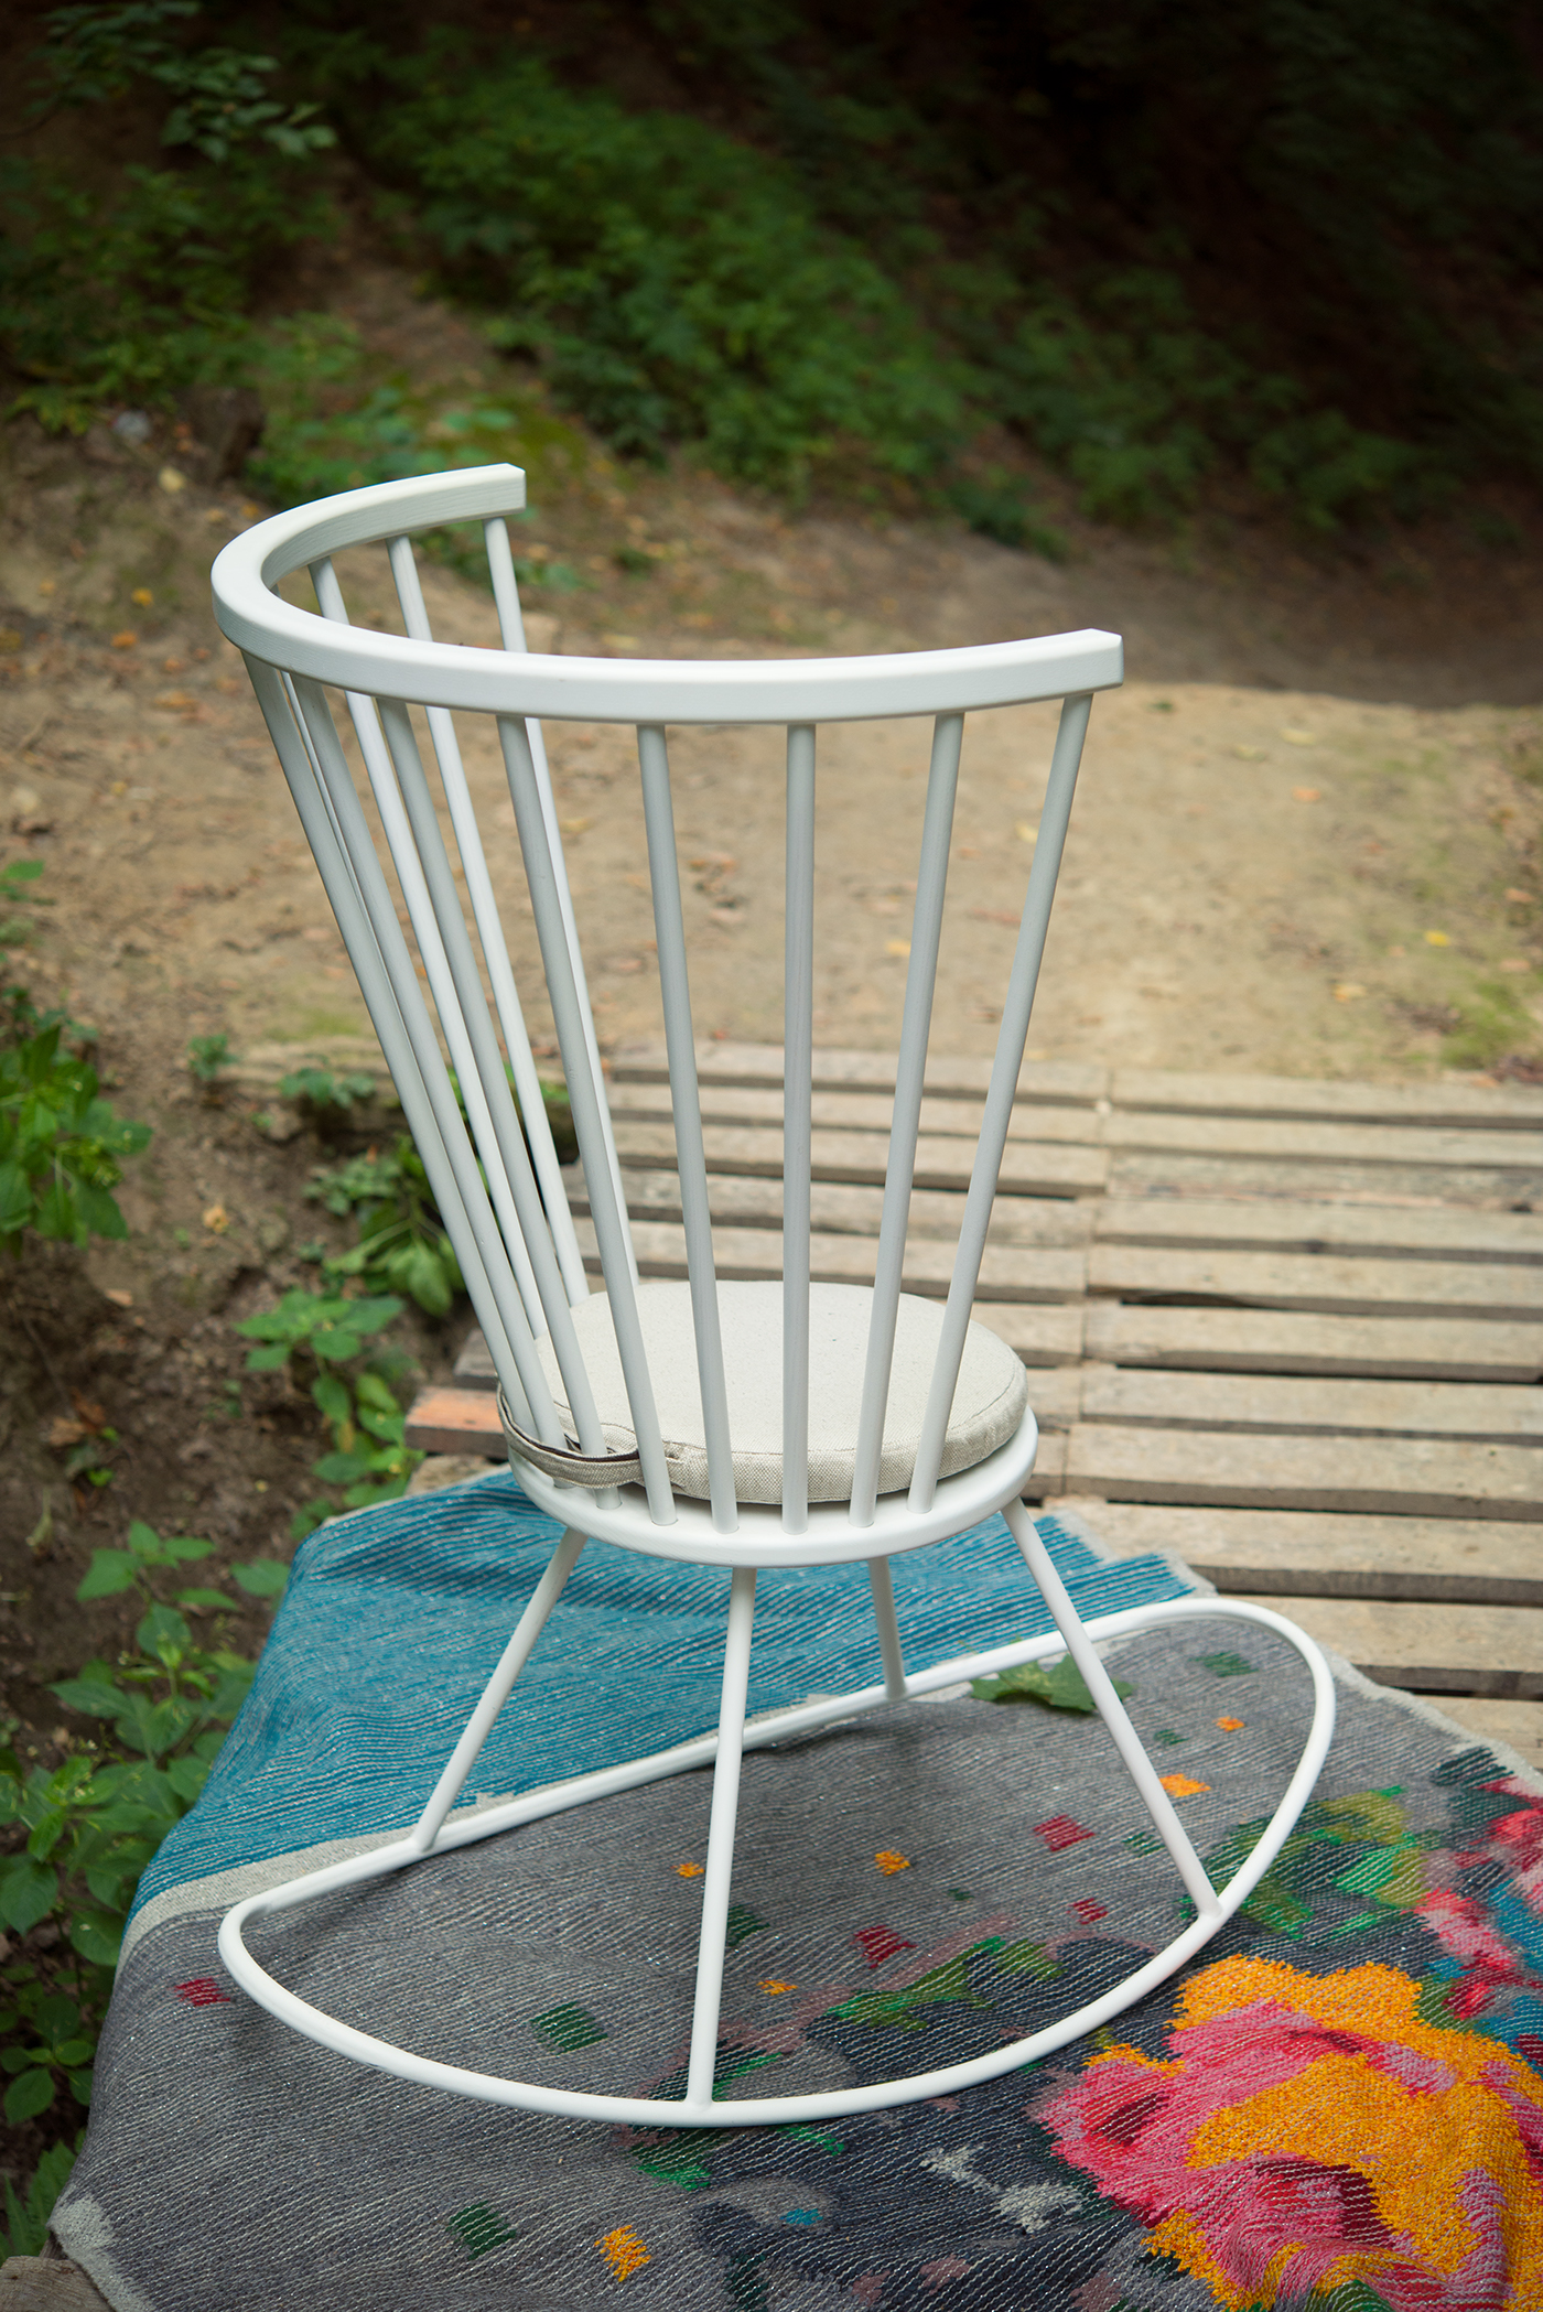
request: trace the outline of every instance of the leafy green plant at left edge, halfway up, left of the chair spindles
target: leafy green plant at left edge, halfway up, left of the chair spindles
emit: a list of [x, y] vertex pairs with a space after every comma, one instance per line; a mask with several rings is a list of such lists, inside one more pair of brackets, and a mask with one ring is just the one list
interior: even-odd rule
[[65, 1024], [49, 1013], [0, 1047], [0, 1246], [12, 1253], [25, 1228], [67, 1244], [125, 1237], [111, 1191], [123, 1158], [150, 1142], [148, 1124], [99, 1098], [97, 1070], [62, 1043]]

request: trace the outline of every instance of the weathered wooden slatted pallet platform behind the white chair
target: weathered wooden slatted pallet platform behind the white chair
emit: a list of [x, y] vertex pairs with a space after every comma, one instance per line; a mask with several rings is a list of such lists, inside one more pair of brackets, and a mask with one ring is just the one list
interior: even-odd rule
[[[699, 1066], [719, 1274], [777, 1276], [782, 1052]], [[988, 1073], [928, 1066], [911, 1292], [946, 1292]], [[814, 1084], [814, 1274], [863, 1283], [893, 1061]], [[685, 1276], [664, 1054], [611, 1103], [638, 1265]], [[1034, 1498], [1543, 1762], [1543, 1091], [1029, 1064], [976, 1318], [1032, 1366]], [[409, 1440], [497, 1454], [490, 1390], [477, 1334]]]

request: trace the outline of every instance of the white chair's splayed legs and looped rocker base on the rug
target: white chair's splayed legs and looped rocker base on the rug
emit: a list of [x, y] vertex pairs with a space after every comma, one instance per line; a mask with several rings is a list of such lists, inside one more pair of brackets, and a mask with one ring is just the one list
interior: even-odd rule
[[[1302, 1630], [1284, 1616], [1272, 1614], [1265, 1607], [1245, 1605], [1242, 1600], [1180, 1598], [1134, 1607], [1122, 1614], [1103, 1614], [1085, 1623], [1071, 1605], [1071, 1598], [1066, 1595], [1043, 1540], [1039, 1537], [1022, 1503], [1004, 1503], [1004, 1514], [1057, 1623], [1053, 1632], [1020, 1639], [1009, 1646], [995, 1646], [983, 1653], [960, 1655], [951, 1662], [937, 1662], [932, 1669], [905, 1674], [898, 1655], [898, 1639], [893, 1637], [888, 1563], [879, 1556], [870, 1561], [870, 1572], [874, 1581], [874, 1611], [881, 1655], [886, 1662], [886, 1681], [847, 1695], [821, 1697], [817, 1702], [768, 1711], [766, 1716], [747, 1722], [745, 1676], [750, 1660], [754, 1568], [740, 1565], [733, 1574], [729, 1605], [724, 1702], [717, 1734], [701, 1734], [692, 1741], [675, 1743], [669, 1750], [655, 1750], [618, 1766], [604, 1766], [597, 1773], [574, 1776], [567, 1783], [548, 1783], [541, 1789], [525, 1792], [521, 1799], [465, 1808], [451, 1815], [449, 1808], [453, 1806], [465, 1776], [470, 1773], [477, 1752], [497, 1718], [497, 1711], [502, 1709], [525, 1658], [530, 1655], [530, 1648], [534, 1646], [541, 1623], [562, 1593], [562, 1584], [583, 1549], [583, 1535], [569, 1528], [558, 1542], [548, 1570], [541, 1577], [541, 1584], [537, 1586], [537, 1593], [532, 1595], [514, 1637], [509, 1639], [509, 1646], [493, 1672], [493, 1679], [488, 1681], [451, 1762], [440, 1776], [440, 1785], [435, 1787], [419, 1824], [407, 1836], [389, 1838], [366, 1854], [354, 1854], [347, 1861], [331, 1863], [319, 1870], [305, 1870], [285, 1887], [248, 1896], [231, 1912], [227, 1912], [220, 1926], [220, 1958], [224, 1968], [234, 1981], [238, 1981], [241, 1988], [257, 2000], [259, 2007], [266, 2007], [280, 2023], [287, 2023], [303, 2037], [315, 2039], [319, 2046], [326, 2046], [338, 2055], [347, 2055], [354, 2062], [370, 2065], [377, 2072], [428, 2088], [444, 2088], [453, 2095], [465, 2095], [486, 2104], [507, 2104], [521, 2111], [539, 2111], [555, 2118], [604, 2120], [629, 2127], [754, 2127], [833, 2120], [856, 2111], [879, 2111], [893, 2104], [918, 2102], [923, 2097], [955, 2095], [960, 2088], [999, 2078], [1004, 2072], [1036, 2062], [1055, 2048], [1066, 2046], [1071, 2039], [1078, 2039], [1083, 2032], [1097, 2030], [1101, 2023], [1108, 2023], [1127, 2007], [1134, 2007], [1147, 1995], [1147, 1991], [1157, 1988], [1157, 1984], [1187, 1965], [1196, 1951], [1201, 1951], [1233, 1917], [1233, 1912], [1240, 1910], [1254, 1887], [1258, 1887], [1263, 1875], [1270, 1870], [1298, 1815], [1302, 1813], [1302, 1806], [1307, 1803], [1323, 1766], [1323, 1757], [1328, 1755], [1335, 1729], [1335, 1688], [1323, 1653], [1309, 1637], [1305, 1637]], [[1143, 1630], [1215, 1618], [1252, 1623], [1286, 1639], [1286, 1644], [1293, 1646], [1307, 1665], [1314, 1688], [1312, 1727], [1298, 1766], [1258, 1845], [1221, 1891], [1212, 1889], [1168, 1794], [1161, 1789], [1152, 1762], [1140, 1748], [1140, 1739], [1131, 1727], [1120, 1697], [1115, 1695], [1108, 1672], [1094, 1651], [1106, 1639], [1124, 1639]], [[1083, 1672], [1099, 1716], [1103, 1718], [1106, 1729], [1110, 1732], [1115, 1748], [1120, 1750], [1127, 1771], [1131, 1773], [1131, 1780], [1152, 1815], [1152, 1824], [1191, 1896], [1196, 1910], [1191, 1924], [1175, 1935], [1173, 1942], [1145, 1961], [1145, 1965], [1136, 1968], [1101, 1998], [1087, 2000], [1083, 2007], [1043, 2030], [1029, 2032], [1022, 2039], [1013, 2039], [1006, 2046], [992, 2048], [990, 2053], [976, 2055], [967, 2062], [951, 2062], [935, 2072], [916, 2072], [905, 2078], [872, 2081], [858, 2088], [835, 2088], [814, 2095], [715, 2099], [713, 2065], [717, 2051], [724, 1921], [729, 1910], [740, 1752], [759, 1750], [784, 1741], [791, 1734], [807, 1734], [814, 1727], [833, 1725], [840, 1718], [854, 1718], [863, 1711], [884, 1709], [893, 1702], [911, 1702], [923, 1695], [939, 1692], [942, 1688], [958, 1685], [967, 1679], [995, 1676], [1004, 1669], [1018, 1667], [1020, 1662], [1036, 1662], [1057, 1653], [1071, 1653], [1073, 1662]], [[393, 2046], [370, 2032], [354, 2030], [349, 2023], [340, 2023], [319, 2007], [312, 2007], [308, 2000], [296, 1998], [266, 1972], [243, 1942], [243, 1931], [250, 1919], [294, 1910], [296, 1905], [312, 1903], [340, 1887], [356, 1887], [368, 1880], [386, 1877], [393, 1870], [423, 1861], [428, 1854], [446, 1854], [453, 1847], [472, 1845], [479, 1838], [493, 1838], [495, 1833], [518, 1829], [525, 1822], [539, 1822], [546, 1815], [567, 1813], [569, 1808], [585, 1806], [592, 1799], [606, 1799], [615, 1792], [636, 1789], [645, 1783], [657, 1783], [673, 1773], [687, 1773], [689, 1769], [708, 1764], [715, 1769], [713, 1820], [708, 1836], [708, 1866], [703, 1875], [696, 2014], [692, 2025], [685, 2099], [590, 2095], [583, 2090], [502, 2078], [490, 2072], [470, 2072], [460, 2065], [416, 2055], [409, 2048]]]

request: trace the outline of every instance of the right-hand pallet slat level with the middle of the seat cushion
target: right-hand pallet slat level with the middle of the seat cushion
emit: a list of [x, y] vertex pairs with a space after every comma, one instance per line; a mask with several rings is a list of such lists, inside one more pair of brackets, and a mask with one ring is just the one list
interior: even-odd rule
[[[1312, 1380], [1279, 1373], [1161, 1373], [1090, 1364], [1083, 1415], [1090, 1422], [1157, 1429], [1446, 1436], [1490, 1445], [1543, 1445], [1543, 1390], [1474, 1387], [1460, 1380]], [[1543, 1491], [1543, 1461], [1538, 1489]]]

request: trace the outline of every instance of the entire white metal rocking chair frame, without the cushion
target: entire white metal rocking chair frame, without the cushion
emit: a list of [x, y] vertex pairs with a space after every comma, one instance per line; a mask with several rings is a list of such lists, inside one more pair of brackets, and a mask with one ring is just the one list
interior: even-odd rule
[[[215, 564], [215, 615], [241, 645], [264, 707], [273, 744], [294, 791], [338, 927], [349, 948], [386, 1064], [403, 1098], [428, 1179], [460, 1262], [502, 1392], [514, 1415], [548, 1459], [564, 1466], [571, 1452], [537, 1343], [551, 1341], [571, 1408], [576, 1450], [604, 1459], [604, 1436], [583, 1369], [571, 1309], [590, 1285], [569, 1216], [562, 1172], [546, 1126], [537, 1066], [525, 1033], [518, 990], [504, 946], [493, 879], [470, 802], [453, 712], [493, 714], [509, 775], [509, 795], [532, 899], [546, 992], [558, 1024], [574, 1126], [585, 1165], [590, 1214], [611, 1299], [641, 1484], [608, 1484], [606, 1470], [588, 1473], [585, 1489], [546, 1475], [511, 1452], [530, 1498], [562, 1524], [562, 1540], [525, 1607], [456, 1750], [416, 1826], [403, 1838], [352, 1861], [308, 1870], [289, 1884], [238, 1903], [220, 1928], [220, 1956], [231, 1977], [271, 2014], [322, 2046], [359, 2062], [449, 2088], [458, 2095], [569, 2118], [634, 2125], [743, 2127], [752, 2122], [824, 2120], [849, 2111], [914, 2102], [995, 2078], [1106, 2023], [1182, 1968], [1270, 1868], [1319, 1776], [1335, 1722], [1328, 1665], [1293, 1623], [1263, 1607], [1203, 1598], [1138, 1607], [1083, 1623], [1022, 1507], [1022, 1484], [1034, 1466], [1036, 1427], [1025, 1415], [1018, 1433], [985, 1461], [939, 1477], [965, 1334], [976, 1290], [985, 1230], [1006, 1147], [1006, 1133], [1039, 980], [1050, 899], [1060, 872], [1071, 795], [1087, 731], [1092, 694], [1120, 682], [1120, 638], [1087, 631], [981, 650], [937, 650], [884, 659], [814, 661], [618, 661], [532, 657], [525, 652], [518, 587], [504, 516], [523, 506], [525, 479], [516, 467], [384, 483], [324, 499], [259, 523], [224, 548]], [[440, 523], [479, 520], [500, 613], [502, 650], [435, 643], [419, 587], [412, 532]], [[333, 571], [345, 546], [384, 543], [403, 610], [403, 636], [352, 627]], [[310, 569], [319, 613], [296, 610], [273, 592], [296, 569]], [[396, 876], [389, 885], [377, 837], [349, 770], [326, 689], [340, 689], [363, 758], [384, 853]], [[1022, 927], [1013, 957], [997, 1038], [990, 1089], [953, 1279], [942, 1322], [921, 1445], [909, 1494], [877, 1491], [884, 1417], [891, 1390], [905, 1232], [921, 1121], [925, 1047], [944, 913], [953, 798], [962, 721], [969, 707], [1062, 701], [1046, 805], [1027, 879]], [[409, 707], [426, 710], [440, 798], [435, 800]], [[680, 1165], [687, 1274], [696, 1332], [696, 1364], [706, 1417], [708, 1500], [675, 1498], [664, 1438], [643, 1355], [636, 1309], [636, 1258], [627, 1225], [604, 1075], [583, 980], [583, 957], [567, 888], [541, 714], [583, 721], [629, 721], [638, 733], [638, 777], [648, 835], [650, 881], [671, 1105]], [[932, 714], [932, 763], [918, 862], [911, 959], [891, 1119], [877, 1279], [870, 1299], [868, 1362], [856, 1436], [856, 1480], [842, 1503], [807, 1500], [810, 1396], [810, 1158], [812, 1158], [812, 985], [814, 985], [814, 786], [817, 726], [821, 721]], [[787, 728], [787, 1017], [784, 1017], [784, 1436], [782, 1503], [754, 1507], [736, 1500], [733, 1445], [713, 1267], [708, 1174], [696, 1087], [689, 973], [675, 860], [669, 779], [669, 724], [780, 721]], [[440, 825], [449, 816], [460, 855], [465, 902]], [[416, 946], [409, 953], [400, 913]], [[470, 920], [467, 920], [470, 918]], [[481, 955], [481, 962], [479, 962]], [[419, 966], [430, 1003], [419, 987]], [[486, 990], [483, 990], [486, 973]], [[463, 1124], [446, 1073], [453, 1066], [465, 1096]], [[514, 1077], [514, 1094], [509, 1077]], [[775, 1290], [775, 1288], [768, 1288]], [[888, 1558], [962, 1533], [1002, 1510], [1050, 1607], [1055, 1635], [962, 1655], [921, 1674], [907, 1672], [895, 1621]], [[530, 1792], [504, 1806], [451, 1813], [467, 1773], [502, 1709], [546, 1616], [583, 1549], [585, 1535], [620, 1542], [650, 1556], [733, 1568], [724, 1644], [717, 1734], [701, 1734], [671, 1750], [578, 1776]], [[874, 1605], [874, 1644], [884, 1669], [879, 1685], [775, 1711], [745, 1722], [754, 1581], [761, 1565], [837, 1565], [865, 1561]], [[1161, 1787], [1157, 1769], [1115, 1695], [1097, 1646], [1106, 1639], [1191, 1618], [1233, 1618], [1275, 1630], [1305, 1660], [1314, 1709], [1295, 1773], [1247, 1866], [1212, 1889], [1205, 1866]], [[1173, 1942], [1099, 2000], [1055, 2025], [1011, 2041], [974, 2062], [891, 2078], [863, 2088], [784, 2097], [713, 2097], [719, 2030], [724, 1933], [729, 1914], [733, 1826], [740, 1757], [787, 1734], [937, 1692], [962, 1679], [988, 1676], [1018, 1662], [1069, 1653], [1094, 1697], [1115, 1750], [1131, 1776], [1157, 1836], [1194, 1903], [1194, 1921]], [[583, 1806], [590, 1799], [713, 1764], [713, 1810], [696, 1958], [696, 2000], [682, 2099], [590, 2095], [544, 2088], [435, 2062], [338, 2023], [298, 2000], [248, 1951], [250, 1919], [310, 1903], [338, 1887], [384, 1877], [428, 1854], [444, 1854], [523, 1822]]]

